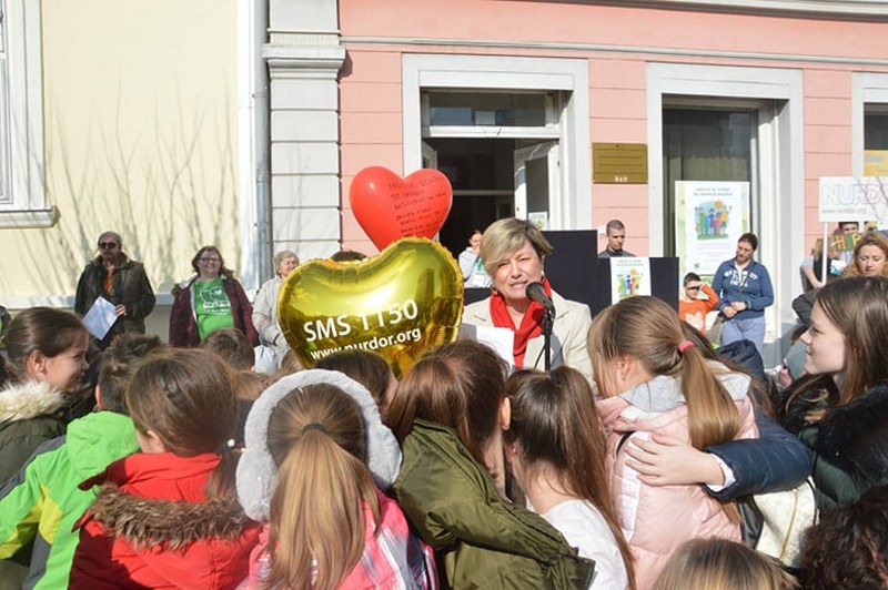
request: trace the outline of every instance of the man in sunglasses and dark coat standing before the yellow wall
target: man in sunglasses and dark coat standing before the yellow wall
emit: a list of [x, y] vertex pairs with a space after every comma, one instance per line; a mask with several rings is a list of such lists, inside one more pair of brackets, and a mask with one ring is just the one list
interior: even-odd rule
[[99, 297], [114, 305], [117, 322], [98, 340], [105, 349], [117, 336], [128, 332], [145, 333], [145, 317], [154, 309], [154, 289], [140, 262], [123, 252], [123, 241], [117, 232], [99, 236], [98, 255], [90, 261], [77, 285], [74, 311], [87, 315]]

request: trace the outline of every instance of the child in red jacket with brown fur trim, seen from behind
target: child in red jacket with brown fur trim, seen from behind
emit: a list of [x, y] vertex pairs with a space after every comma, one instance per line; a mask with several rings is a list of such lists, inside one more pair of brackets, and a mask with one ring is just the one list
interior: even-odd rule
[[218, 356], [173, 349], [150, 357], [127, 387], [142, 452], [112, 462], [79, 522], [70, 588], [234, 588], [259, 526], [234, 488], [229, 450], [238, 421], [234, 375]]

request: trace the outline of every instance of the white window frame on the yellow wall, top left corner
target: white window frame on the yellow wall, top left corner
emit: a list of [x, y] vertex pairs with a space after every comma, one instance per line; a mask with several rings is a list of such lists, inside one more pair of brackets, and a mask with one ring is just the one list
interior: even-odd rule
[[47, 203], [43, 152], [41, 0], [3, 1], [3, 82], [7, 157], [0, 227], [49, 227], [57, 210]]

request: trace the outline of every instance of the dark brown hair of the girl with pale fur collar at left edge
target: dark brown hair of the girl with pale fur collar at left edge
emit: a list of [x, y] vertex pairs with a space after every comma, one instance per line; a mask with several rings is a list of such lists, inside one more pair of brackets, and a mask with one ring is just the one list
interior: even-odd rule
[[7, 372], [10, 380], [26, 377], [26, 364], [33, 352], [52, 358], [71, 348], [88, 334], [83, 322], [53, 307], [31, 307], [16, 314], [6, 335]]

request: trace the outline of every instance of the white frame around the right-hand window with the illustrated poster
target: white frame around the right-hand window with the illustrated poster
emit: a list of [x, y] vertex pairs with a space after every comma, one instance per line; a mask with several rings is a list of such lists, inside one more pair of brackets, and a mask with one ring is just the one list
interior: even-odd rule
[[[775, 306], [766, 311], [766, 343], [777, 342], [795, 323], [790, 306], [797, 291], [798, 263], [805, 257], [804, 87], [800, 70], [649, 63], [647, 65], [648, 231], [650, 255], [663, 255], [656, 240], [663, 224], [663, 104], [664, 96], [712, 96], [783, 101], [777, 113], [759, 119], [758, 223], [760, 262], [774, 284]], [[763, 119], [770, 121], [763, 124]], [[774, 182], [768, 182], [768, 180]], [[779, 247], [774, 247], [778, 244]], [[767, 346], [765, 362], [779, 360], [780, 347]]]

